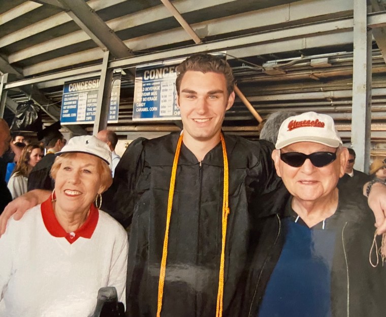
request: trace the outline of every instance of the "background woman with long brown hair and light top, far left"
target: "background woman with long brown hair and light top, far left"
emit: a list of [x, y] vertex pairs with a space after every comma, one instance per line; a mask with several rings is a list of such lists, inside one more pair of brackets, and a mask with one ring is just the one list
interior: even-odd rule
[[8, 189], [12, 194], [12, 199], [27, 192], [29, 172], [42, 157], [43, 148], [39, 145], [29, 145], [23, 149], [21, 157], [8, 181]]

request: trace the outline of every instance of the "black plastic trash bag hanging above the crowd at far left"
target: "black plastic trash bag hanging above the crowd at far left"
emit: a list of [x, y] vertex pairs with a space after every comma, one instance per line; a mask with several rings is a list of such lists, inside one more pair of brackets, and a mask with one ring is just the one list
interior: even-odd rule
[[11, 131], [40, 131], [42, 129], [42, 113], [32, 100], [18, 104]]

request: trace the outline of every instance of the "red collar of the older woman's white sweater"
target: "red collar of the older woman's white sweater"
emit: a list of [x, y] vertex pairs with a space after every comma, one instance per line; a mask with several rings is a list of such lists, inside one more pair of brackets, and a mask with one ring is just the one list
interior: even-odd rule
[[99, 219], [99, 211], [97, 207], [91, 204], [90, 214], [88, 215], [85, 223], [83, 223], [82, 226], [74, 232], [67, 233], [55, 217], [55, 213], [52, 208], [51, 196], [41, 205], [41, 211], [44, 225], [50, 235], [57, 238], [66, 238], [71, 244], [78, 240], [79, 237], [90, 239], [94, 233], [95, 227], [97, 227]]

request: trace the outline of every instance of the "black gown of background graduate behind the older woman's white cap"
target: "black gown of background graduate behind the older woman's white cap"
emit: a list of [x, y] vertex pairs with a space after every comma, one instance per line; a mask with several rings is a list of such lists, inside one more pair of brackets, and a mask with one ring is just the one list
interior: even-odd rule
[[33, 189], [54, 189], [50, 171], [55, 158], [55, 154], [48, 153], [34, 166], [28, 176], [28, 191]]

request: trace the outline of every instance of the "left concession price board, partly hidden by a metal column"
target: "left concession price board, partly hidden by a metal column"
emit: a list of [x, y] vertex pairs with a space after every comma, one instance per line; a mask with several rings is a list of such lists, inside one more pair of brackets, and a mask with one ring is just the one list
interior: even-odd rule
[[[90, 124], [95, 121], [100, 78], [65, 82], [60, 109], [60, 124]], [[120, 74], [113, 77], [108, 123], [118, 122]], [[102, 96], [101, 96], [102, 98]]]

